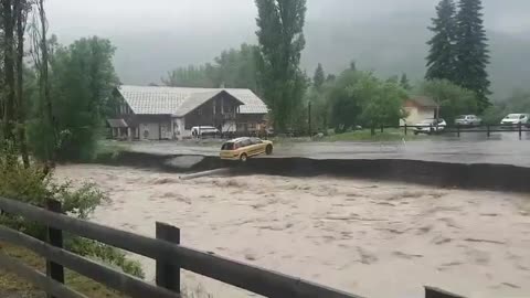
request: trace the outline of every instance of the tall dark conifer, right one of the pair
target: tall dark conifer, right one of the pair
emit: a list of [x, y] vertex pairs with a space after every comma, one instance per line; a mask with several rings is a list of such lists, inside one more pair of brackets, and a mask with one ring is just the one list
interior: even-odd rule
[[456, 83], [477, 94], [478, 109], [483, 111], [490, 103], [488, 38], [484, 29], [481, 0], [460, 0], [456, 14]]

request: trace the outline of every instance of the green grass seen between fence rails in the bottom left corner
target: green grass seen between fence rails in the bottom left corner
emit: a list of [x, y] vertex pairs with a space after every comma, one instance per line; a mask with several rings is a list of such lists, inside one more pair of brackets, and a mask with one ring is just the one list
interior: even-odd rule
[[[45, 272], [45, 260], [39, 255], [11, 244], [0, 242], [0, 252], [15, 258], [25, 265], [40, 272]], [[81, 276], [68, 269], [65, 270], [65, 285], [70, 288], [86, 295], [87, 297], [121, 298], [126, 297], [115, 290], [98, 284], [87, 277]], [[11, 295], [11, 296], [8, 296]], [[0, 297], [44, 297], [42, 291], [32, 284], [18, 277], [14, 274], [0, 269]]]

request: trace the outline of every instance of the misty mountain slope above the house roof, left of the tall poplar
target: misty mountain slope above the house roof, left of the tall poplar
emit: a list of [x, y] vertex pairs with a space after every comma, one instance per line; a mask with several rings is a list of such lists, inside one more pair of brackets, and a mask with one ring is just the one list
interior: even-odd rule
[[135, 35], [109, 36], [117, 46], [116, 71], [123, 83], [160, 83], [160, 78], [178, 66], [212, 62], [221, 51], [239, 47], [252, 39], [253, 32], [245, 29], [233, 35], [220, 34], [215, 30], [160, 31]]

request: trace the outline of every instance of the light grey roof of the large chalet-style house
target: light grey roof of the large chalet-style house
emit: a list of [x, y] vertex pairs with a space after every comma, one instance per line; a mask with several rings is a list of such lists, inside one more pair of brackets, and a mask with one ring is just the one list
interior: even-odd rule
[[250, 89], [184, 88], [123, 85], [119, 93], [135, 114], [183, 116], [221, 92], [243, 103], [240, 114], [267, 114], [267, 106]]

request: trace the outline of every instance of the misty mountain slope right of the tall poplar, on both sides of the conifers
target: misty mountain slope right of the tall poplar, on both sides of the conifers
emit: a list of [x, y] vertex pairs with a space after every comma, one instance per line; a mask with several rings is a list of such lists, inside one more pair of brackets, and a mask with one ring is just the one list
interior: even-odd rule
[[[407, 14], [410, 17], [410, 14]], [[307, 47], [303, 63], [312, 73], [317, 63], [325, 71], [337, 73], [356, 61], [361, 70], [373, 70], [381, 76], [405, 72], [411, 79], [425, 74], [426, 41], [431, 32], [425, 18], [394, 15], [383, 22], [333, 25], [309, 22], [306, 26]], [[506, 97], [515, 88], [530, 84], [530, 32], [516, 36], [488, 32], [491, 65], [491, 89], [496, 97]]]

